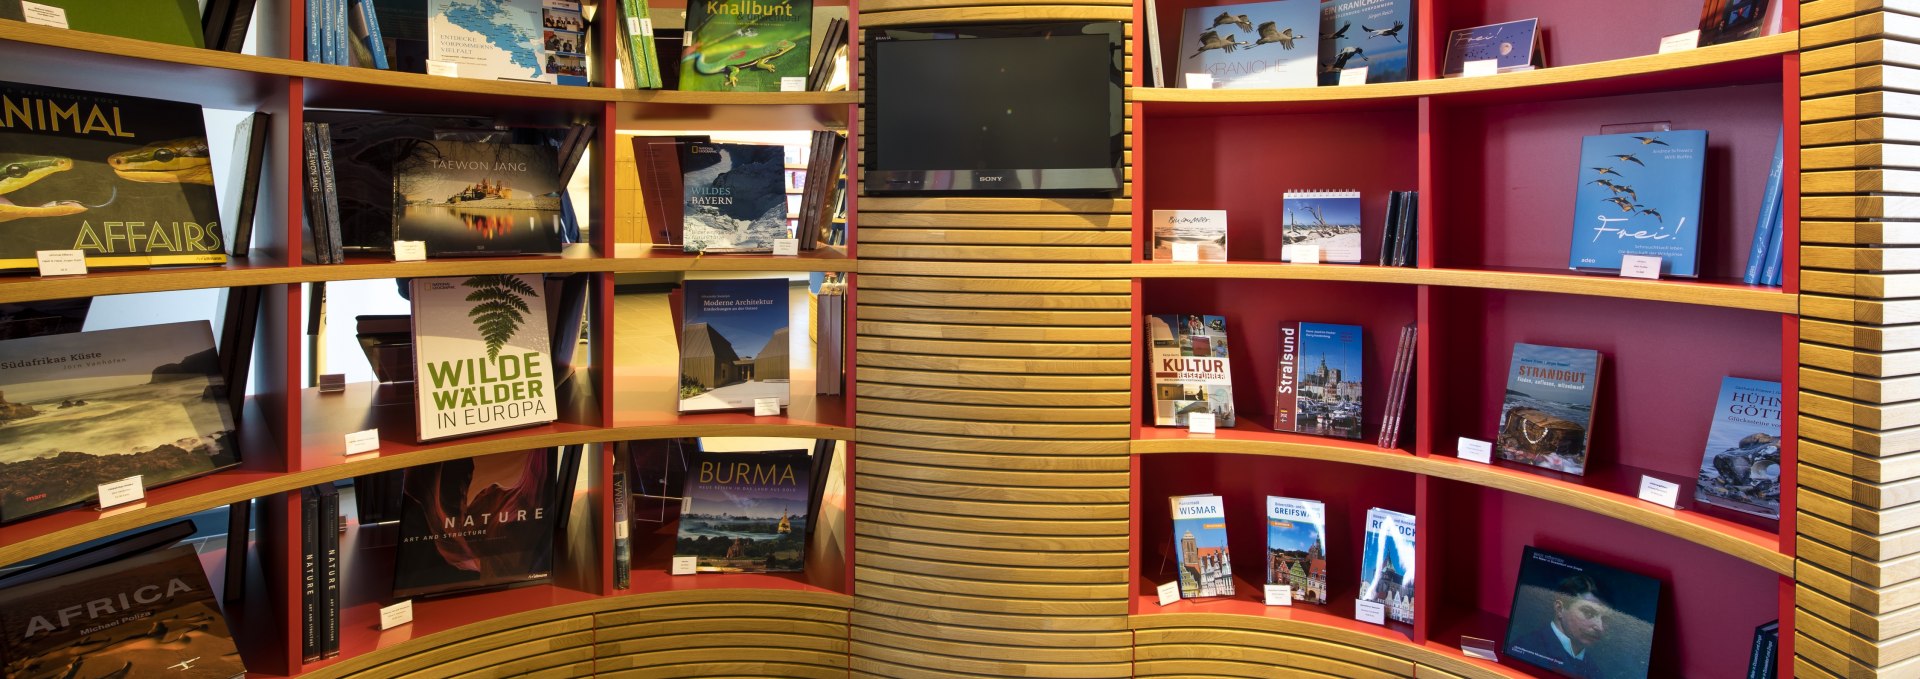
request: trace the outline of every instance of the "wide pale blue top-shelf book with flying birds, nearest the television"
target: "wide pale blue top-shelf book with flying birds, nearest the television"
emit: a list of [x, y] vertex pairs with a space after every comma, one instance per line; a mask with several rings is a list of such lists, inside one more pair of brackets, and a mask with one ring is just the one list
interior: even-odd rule
[[1277, 0], [1188, 8], [1181, 15], [1177, 86], [1210, 75], [1215, 88], [1313, 86], [1319, 2]]

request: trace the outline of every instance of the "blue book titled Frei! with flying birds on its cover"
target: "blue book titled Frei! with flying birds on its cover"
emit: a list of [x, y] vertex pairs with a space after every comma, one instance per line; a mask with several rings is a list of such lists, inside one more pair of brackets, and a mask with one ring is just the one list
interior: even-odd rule
[[1567, 267], [1620, 270], [1620, 255], [1653, 255], [1661, 276], [1699, 276], [1705, 167], [1707, 130], [1584, 138]]

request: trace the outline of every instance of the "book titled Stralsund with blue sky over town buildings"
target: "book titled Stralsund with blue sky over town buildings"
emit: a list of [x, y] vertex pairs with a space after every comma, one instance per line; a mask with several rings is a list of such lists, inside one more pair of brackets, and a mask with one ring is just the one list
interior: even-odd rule
[[1359, 439], [1365, 357], [1361, 326], [1281, 322], [1273, 430]]

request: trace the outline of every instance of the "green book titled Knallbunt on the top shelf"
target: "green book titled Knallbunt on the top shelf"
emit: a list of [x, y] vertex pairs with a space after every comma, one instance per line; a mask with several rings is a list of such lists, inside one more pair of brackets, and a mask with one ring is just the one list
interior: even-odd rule
[[687, 46], [680, 88], [697, 92], [780, 92], [781, 79], [806, 88], [812, 0], [687, 2]]

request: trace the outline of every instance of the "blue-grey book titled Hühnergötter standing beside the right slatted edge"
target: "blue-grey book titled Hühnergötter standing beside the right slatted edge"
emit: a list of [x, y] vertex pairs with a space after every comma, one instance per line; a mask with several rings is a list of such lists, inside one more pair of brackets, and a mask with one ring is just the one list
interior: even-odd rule
[[1722, 378], [1693, 499], [1780, 518], [1780, 382]]

